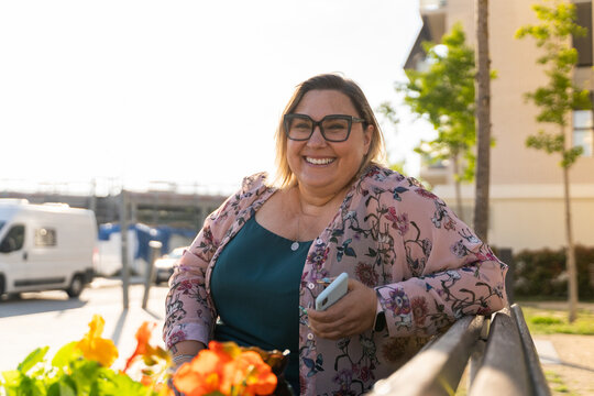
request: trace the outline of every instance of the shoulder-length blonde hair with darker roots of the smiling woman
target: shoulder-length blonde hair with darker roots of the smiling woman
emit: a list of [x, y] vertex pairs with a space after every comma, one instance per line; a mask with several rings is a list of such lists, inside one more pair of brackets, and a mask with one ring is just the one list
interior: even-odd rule
[[299, 102], [301, 101], [304, 96], [310, 90], [337, 90], [346, 95], [351, 99], [351, 102], [353, 103], [354, 108], [356, 109], [359, 113], [358, 116], [365, 120], [365, 122], [363, 123], [363, 128], [366, 128], [367, 125], [373, 127], [370, 150], [367, 151], [367, 154], [363, 158], [361, 167], [359, 168], [354, 177], [361, 176], [363, 170], [367, 168], [367, 166], [371, 164], [377, 165], [377, 164], [384, 163], [385, 156], [386, 156], [385, 146], [384, 146], [384, 135], [382, 134], [380, 124], [377, 120], [375, 119], [373, 109], [371, 108], [361, 88], [353, 80], [346, 79], [337, 74], [322, 74], [322, 75], [314, 76], [305, 80], [304, 82], [299, 84], [296, 87], [295, 92], [293, 94], [293, 97], [289, 99], [287, 106], [285, 107], [283, 114], [280, 116], [280, 121], [278, 122], [278, 127], [275, 133], [276, 175], [274, 179], [274, 185], [276, 185], [279, 188], [283, 188], [283, 187], [292, 186], [296, 183], [295, 175], [290, 170], [290, 167], [287, 161], [287, 136], [285, 134], [285, 125], [284, 125], [283, 119], [285, 114], [289, 114], [293, 111], [295, 111], [295, 109], [297, 108], [297, 106], [299, 106]]

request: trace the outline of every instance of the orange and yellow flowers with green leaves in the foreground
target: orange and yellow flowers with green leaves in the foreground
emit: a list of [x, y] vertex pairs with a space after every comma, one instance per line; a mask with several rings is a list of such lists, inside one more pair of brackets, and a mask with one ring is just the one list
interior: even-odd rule
[[1, 374], [0, 395], [174, 395], [167, 385], [172, 383], [187, 396], [271, 395], [286, 364], [278, 351], [211, 341], [209, 349], [173, 373], [169, 353], [148, 342], [155, 323], [144, 322], [136, 332], [136, 349], [118, 370], [112, 367], [118, 349], [101, 338], [103, 324], [96, 315], [82, 339], [62, 346], [51, 361], [48, 346], [31, 352], [15, 370]]

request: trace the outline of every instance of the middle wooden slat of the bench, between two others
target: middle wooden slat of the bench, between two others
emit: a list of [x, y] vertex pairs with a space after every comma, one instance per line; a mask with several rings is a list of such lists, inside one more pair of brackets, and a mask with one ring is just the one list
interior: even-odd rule
[[483, 364], [471, 385], [469, 396], [532, 394], [520, 342], [518, 328], [509, 316], [509, 309], [496, 312]]

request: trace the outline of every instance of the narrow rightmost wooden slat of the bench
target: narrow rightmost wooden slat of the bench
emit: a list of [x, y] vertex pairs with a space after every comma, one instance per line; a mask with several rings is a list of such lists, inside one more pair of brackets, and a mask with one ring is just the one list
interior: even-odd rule
[[542, 366], [540, 365], [540, 359], [535, 346], [535, 342], [530, 337], [530, 331], [528, 326], [526, 326], [526, 320], [524, 320], [524, 314], [521, 312], [520, 306], [514, 304], [512, 306], [512, 315], [518, 327], [518, 331], [521, 338], [521, 346], [524, 348], [524, 354], [526, 356], [526, 364], [528, 365], [528, 372], [530, 382], [532, 384], [534, 395], [536, 396], [550, 396], [551, 389], [547, 384], [547, 378], [542, 372]]

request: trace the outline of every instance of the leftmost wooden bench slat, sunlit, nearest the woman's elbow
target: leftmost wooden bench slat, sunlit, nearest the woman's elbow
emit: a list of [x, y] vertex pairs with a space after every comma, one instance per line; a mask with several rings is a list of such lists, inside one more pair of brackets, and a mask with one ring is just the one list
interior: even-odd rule
[[419, 351], [389, 377], [377, 382], [371, 395], [452, 395], [481, 334], [483, 321], [482, 316], [458, 320], [430, 348]]

